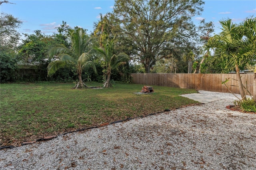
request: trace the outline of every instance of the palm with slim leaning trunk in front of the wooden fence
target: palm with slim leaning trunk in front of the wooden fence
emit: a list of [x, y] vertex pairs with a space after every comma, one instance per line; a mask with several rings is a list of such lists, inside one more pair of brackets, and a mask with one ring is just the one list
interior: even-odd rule
[[227, 61], [226, 68], [236, 69], [239, 92], [243, 100], [246, 99], [246, 91], [242, 84], [240, 68], [256, 57], [255, 18], [246, 18], [242, 24], [233, 24], [231, 19], [221, 20], [220, 24], [222, 32], [211, 37], [206, 47], [214, 49], [215, 59], [221, 57]]

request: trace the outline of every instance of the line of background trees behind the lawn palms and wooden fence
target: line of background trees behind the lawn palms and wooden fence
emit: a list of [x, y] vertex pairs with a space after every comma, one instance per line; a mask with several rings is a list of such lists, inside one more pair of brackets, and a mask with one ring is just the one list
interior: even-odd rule
[[[5, 2], [8, 3], [1, 1], [1, 5]], [[86, 38], [90, 39], [86, 50], [104, 49], [107, 43], [112, 42], [112, 55], [126, 53], [130, 57], [129, 61], [112, 69], [111, 78], [116, 81], [130, 82], [130, 73], [229, 72], [234, 68], [226, 67], [224, 58], [212, 59], [218, 51], [213, 53], [205, 48], [214, 31], [212, 22], [202, 20], [199, 25], [192, 22], [192, 17], [203, 11], [203, 4], [202, 0], [116, 0], [114, 11], [101, 15], [100, 20], [94, 23], [93, 33], [83, 28]], [[47, 76], [49, 63], [59, 59], [58, 55], [49, 55], [47, 51], [60, 44], [70, 49], [72, 39], [68, 32], [80, 28], [70, 28], [63, 21], [56, 28], [57, 33], [45, 35], [35, 30], [33, 34], [24, 34], [25, 38], [20, 40], [21, 35], [16, 31], [20, 24], [22, 22], [18, 18], [1, 13], [1, 82], [76, 81], [78, 72], [75, 67], [62, 67], [52, 77]], [[97, 73], [90, 66], [85, 66], [81, 79], [103, 79], [106, 83], [106, 61], [97, 53], [90, 53], [88, 57]], [[243, 64], [240, 69], [246, 67]], [[33, 69], [36, 76], [22, 74], [28, 69]]]

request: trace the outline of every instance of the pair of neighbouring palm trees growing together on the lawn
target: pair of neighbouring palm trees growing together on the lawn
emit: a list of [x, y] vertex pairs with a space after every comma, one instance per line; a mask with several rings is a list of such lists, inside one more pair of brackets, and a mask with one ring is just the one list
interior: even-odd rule
[[95, 52], [95, 54], [99, 55], [104, 61], [104, 69], [106, 70], [104, 87], [109, 87], [111, 85], [111, 71], [116, 69], [119, 65], [125, 64], [126, 62], [124, 61], [128, 60], [129, 56], [125, 53], [115, 55], [113, 41], [108, 41], [99, 48], [88, 49], [88, 44], [91, 39], [82, 28], [69, 29], [68, 36], [71, 40], [70, 48], [59, 44], [48, 50], [48, 55], [58, 57], [58, 59], [49, 63], [47, 67], [48, 76], [52, 76], [60, 68], [75, 68], [79, 81], [74, 88], [88, 87], [82, 80], [82, 71], [86, 65], [90, 65], [96, 73], [96, 67], [93, 61], [90, 61], [91, 53]]

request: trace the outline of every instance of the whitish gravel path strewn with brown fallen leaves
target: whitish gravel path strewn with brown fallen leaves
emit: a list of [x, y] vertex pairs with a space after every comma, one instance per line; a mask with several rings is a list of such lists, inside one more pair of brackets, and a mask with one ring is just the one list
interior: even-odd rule
[[0, 169], [256, 170], [256, 115], [220, 100], [0, 151]]

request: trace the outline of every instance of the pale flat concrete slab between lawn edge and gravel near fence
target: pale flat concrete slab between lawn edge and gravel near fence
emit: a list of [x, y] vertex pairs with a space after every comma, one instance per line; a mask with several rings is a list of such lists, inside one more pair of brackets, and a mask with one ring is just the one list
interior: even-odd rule
[[211, 103], [211, 102], [220, 100], [216, 97], [212, 97], [209, 95], [203, 95], [200, 93], [185, 94], [185, 95], [180, 95], [180, 96], [187, 97], [188, 99], [192, 99], [192, 100], [198, 101], [200, 103]]

